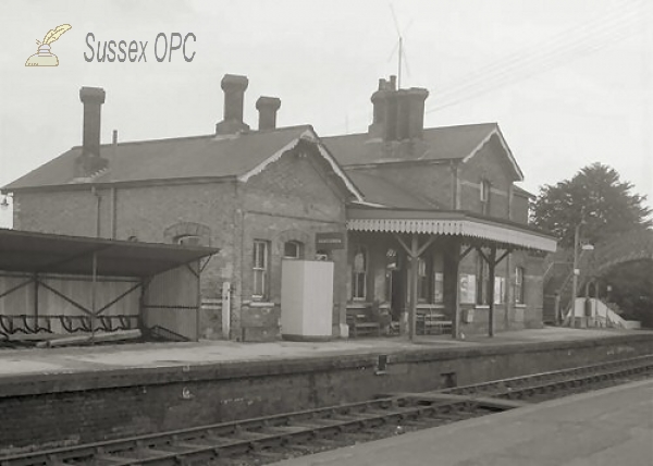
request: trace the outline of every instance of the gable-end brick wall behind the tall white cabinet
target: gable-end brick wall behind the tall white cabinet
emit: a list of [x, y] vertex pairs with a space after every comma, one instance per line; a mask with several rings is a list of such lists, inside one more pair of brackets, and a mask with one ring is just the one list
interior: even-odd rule
[[[342, 188], [330, 179], [315, 155], [288, 152], [252, 176], [239, 187], [242, 194], [242, 283], [236, 292], [242, 303], [244, 334], [249, 340], [267, 340], [279, 333], [281, 316], [281, 262], [284, 244], [303, 244], [304, 258], [316, 257], [317, 232], [345, 230], [345, 204]], [[269, 306], [252, 302], [254, 242], [263, 240], [270, 245]], [[335, 278], [342, 278], [346, 267], [344, 252], [334, 252]], [[334, 281], [334, 334], [345, 306], [342, 280]], [[243, 332], [243, 330], [241, 330]], [[247, 336], [245, 336], [247, 339]]]

